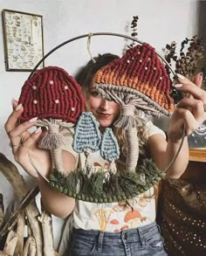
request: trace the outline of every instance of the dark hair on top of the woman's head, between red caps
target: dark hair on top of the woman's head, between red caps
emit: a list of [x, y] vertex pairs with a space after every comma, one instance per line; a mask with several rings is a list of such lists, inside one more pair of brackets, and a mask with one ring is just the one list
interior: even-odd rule
[[86, 64], [86, 66], [79, 69], [74, 78], [79, 85], [82, 86], [82, 92], [86, 97], [90, 86], [92, 86], [95, 73], [97, 73], [102, 66], [106, 66], [113, 61], [113, 59], [120, 59], [120, 57], [112, 53], [99, 54], [98, 57], [94, 57]]

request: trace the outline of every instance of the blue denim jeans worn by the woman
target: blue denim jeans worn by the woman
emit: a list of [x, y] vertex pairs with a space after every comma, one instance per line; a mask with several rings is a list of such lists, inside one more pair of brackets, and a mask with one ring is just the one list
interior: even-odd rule
[[168, 255], [164, 252], [159, 226], [155, 223], [122, 232], [74, 229], [70, 256]]

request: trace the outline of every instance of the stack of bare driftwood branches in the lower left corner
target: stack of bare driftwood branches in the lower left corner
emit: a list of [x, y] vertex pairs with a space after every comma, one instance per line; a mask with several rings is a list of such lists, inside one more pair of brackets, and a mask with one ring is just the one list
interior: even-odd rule
[[38, 188], [29, 191], [24, 177], [14, 163], [0, 153], [0, 171], [10, 182], [20, 204], [3, 223], [3, 197], [0, 197], [0, 256], [52, 256], [58, 255], [53, 248], [52, 216], [42, 206], [41, 213], [35, 201]]

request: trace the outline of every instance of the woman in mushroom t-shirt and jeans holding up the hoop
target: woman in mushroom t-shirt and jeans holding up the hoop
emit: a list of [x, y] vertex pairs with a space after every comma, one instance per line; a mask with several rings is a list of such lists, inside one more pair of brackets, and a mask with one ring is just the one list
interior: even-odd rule
[[[119, 104], [107, 101], [100, 97], [97, 89], [93, 86], [95, 73], [101, 66], [105, 66], [118, 57], [112, 54], [104, 54], [91, 60], [83, 68], [77, 81], [82, 85], [87, 100], [87, 107], [100, 123], [103, 133], [105, 128], [113, 128], [113, 122], [120, 113]], [[182, 139], [182, 127], [185, 124], [186, 135], [191, 134], [206, 118], [205, 93], [195, 84], [178, 75], [180, 84], [175, 85], [177, 90], [190, 93], [193, 97], [181, 100], [168, 126], [168, 142], [165, 135], [148, 121], [147, 125], [138, 126], [140, 147], [142, 156], [151, 156], [160, 170], [165, 170], [179, 149]], [[28, 128], [35, 126], [37, 118], [17, 125], [19, 116], [24, 112], [24, 107], [13, 100], [14, 111], [5, 123], [5, 129], [10, 136], [12, 152], [28, 174], [33, 176], [41, 191], [42, 201], [45, 208], [52, 214], [65, 218], [72, 213], [74, 230], [72, 232], [69, 255], [166, 255], [163, 250], [161, 235], [155, 220], [155, 205], [153, 188], [142, 195], [132, 198], [127, 203], [94, 204], [86, 203], [72, 197], [67, 197], [54, 190], [38, 172], [33, 169], [28, 153], [36, 163], [38, 170], [48, 176], [52, 169], [52, 159], [48, 151], [38, 149], [36, 144], [42, 134], [38, 128], [31, 135]], [[122, 136], [117, 131], [119, 142]], [[21, 141], [24, 140], [22, 144]], [[124, 143], [122, 143], [123, 145]], [[121, 152], [124, 162], [124, 148]], [[77, 154], [72, 149], [63, 151], [65, 170], [76, 168]], [[95, 158], [97, 157], [97, 158]], [[104, 165], [100, 156], [95, 156], [93, 163]], [[100, 160], [100, 161], [99, 161]], [[182, 150], [175, 163], [170, 167], [167, 178], [178, 178], [186, 169], [189, 162], [189, 148], [187, 140], [184, 140]], [[119, 165], [119, 163], [118, 163]]]

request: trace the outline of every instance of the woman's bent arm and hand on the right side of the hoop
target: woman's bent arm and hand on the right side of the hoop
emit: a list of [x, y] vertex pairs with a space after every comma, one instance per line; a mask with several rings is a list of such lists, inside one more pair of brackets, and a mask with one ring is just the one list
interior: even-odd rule
[[177, 90], [189, 96], [182, 99], [176, 106], [168, 125], [168, 143], [162, 135], [153, 135], [148, 140], [148, 148], [154, 162], [161, 170], [165, 170], [175, 156], [182, 140], [182, 130], [185, 126], [186, 137], [175, 163], [168, 170], [168, 178], [178, 178], [189, 163], [189, 147], [187, 136], [206, 120], [206, 92], [200, 88], [203, 76], [196, 76], [196, 85], [190, 80], [179, 76], [181, 84], [175, 85]]

